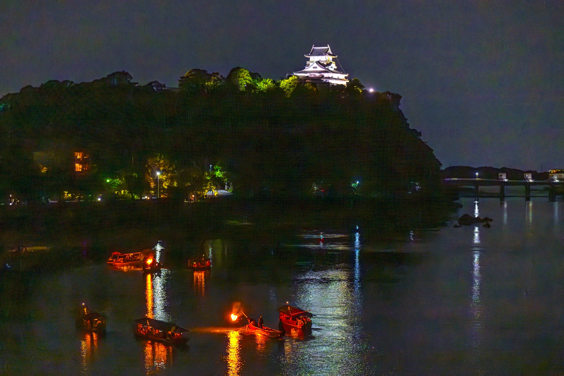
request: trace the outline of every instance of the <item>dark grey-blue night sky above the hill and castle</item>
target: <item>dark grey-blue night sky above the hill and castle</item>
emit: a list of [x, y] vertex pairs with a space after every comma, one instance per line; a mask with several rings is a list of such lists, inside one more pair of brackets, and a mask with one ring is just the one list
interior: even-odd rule
[[280, 78], [331, 45], [449, 165], [564, 168], [564, 2], [0, 1], [0, 95], [127, 70]]

